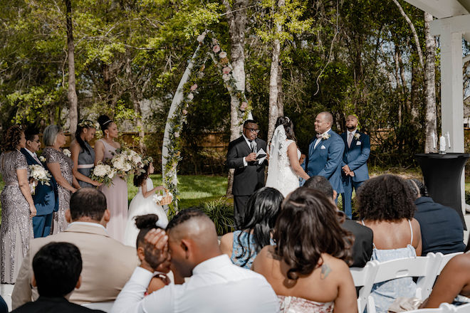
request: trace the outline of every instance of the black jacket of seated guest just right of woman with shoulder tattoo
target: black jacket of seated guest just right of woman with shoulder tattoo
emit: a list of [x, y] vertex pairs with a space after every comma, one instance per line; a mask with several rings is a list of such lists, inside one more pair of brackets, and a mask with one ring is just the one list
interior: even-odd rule
[[374, 242], [372, 229], [349, 219], [346, 219], [341, 226], [343, 229], [349, 230], [355, 237], [352, 245], [352, 265], [350, 267], [364, 267], [372, 256], [372, 243]]

